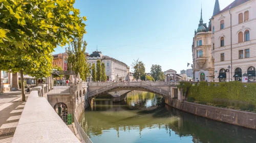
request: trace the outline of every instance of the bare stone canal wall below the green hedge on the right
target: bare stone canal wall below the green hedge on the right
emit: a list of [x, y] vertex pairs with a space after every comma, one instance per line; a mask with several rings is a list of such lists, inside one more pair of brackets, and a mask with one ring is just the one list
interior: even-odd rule
[[256, 130], [256, 113], [180, 102], [177, 99], [165, 99], [165, 104], [197, 116]]

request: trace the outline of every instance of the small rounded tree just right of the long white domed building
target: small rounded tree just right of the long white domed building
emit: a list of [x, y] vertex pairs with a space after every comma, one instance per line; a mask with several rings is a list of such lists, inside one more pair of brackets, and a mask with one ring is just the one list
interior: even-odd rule
[[139, 59], [137, 59], [136, 61], [134, 60], [134, 62], [132, 63], [132, 68], [134, 72], [133, 76], [135, 77], [135, 79], [139, 79], [139, 76], [140, 76], [140, 79], [142, 79], [142, 77], [145, 74], [144, 63], [142, 61], [139, 61]]

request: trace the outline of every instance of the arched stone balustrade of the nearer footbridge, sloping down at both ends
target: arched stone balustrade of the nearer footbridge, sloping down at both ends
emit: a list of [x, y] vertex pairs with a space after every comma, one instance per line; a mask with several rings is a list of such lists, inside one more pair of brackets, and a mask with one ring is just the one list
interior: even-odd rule
[[114, 88], [144, 88], [149, 91], [158, 93], [160, 95], [164, 95], [166, 97], [168, 97], [170, 95], [170, 92], [162, 90], [160, 88], [157, 88], [151, 84], [148, 84], [150, 82], [114, 82], [114, 83], [110, 82], [110, 83], [111, 84], [108, 84], [105, 87], [102, 87], [95, 91], [88, 92], [88, 97], [93, 97], [95, 95], [104, 93], [104, 92], [112, 90]]

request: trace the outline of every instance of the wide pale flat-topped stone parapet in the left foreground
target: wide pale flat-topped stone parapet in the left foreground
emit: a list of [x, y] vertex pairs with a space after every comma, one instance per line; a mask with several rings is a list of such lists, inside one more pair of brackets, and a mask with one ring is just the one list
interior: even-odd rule
[[44, 97], [32, 91], [12, 142], [80, 142]]

